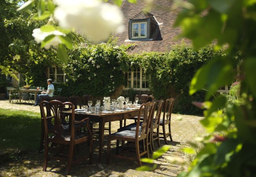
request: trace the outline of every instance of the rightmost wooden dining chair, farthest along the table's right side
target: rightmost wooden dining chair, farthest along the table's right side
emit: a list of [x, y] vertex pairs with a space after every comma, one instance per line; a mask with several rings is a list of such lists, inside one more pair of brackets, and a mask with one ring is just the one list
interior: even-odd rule
[[[160, 135], [163, 135], [160, 138], [163, 138], [165, 140], [165, 144], [168, 144], [167, 136], [170, 136], [171, 141], [173, 141], [172, 134], [171, 134], [171, 115], [173, 111], [173, 103], [174, 103], [174, 98], [165, 100], [163, 119], [160, 119], [160, 124], [159, 124], [163, 129], [163, 133], [159, 133]], [[165, 133], [165, 125], [168, 125], [169, 127], [168, 133]]]

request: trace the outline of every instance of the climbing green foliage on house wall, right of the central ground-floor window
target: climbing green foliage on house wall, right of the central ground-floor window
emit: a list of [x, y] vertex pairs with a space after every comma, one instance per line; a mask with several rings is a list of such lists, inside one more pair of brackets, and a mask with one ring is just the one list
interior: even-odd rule
[[221, 57], [222, 50], [215, 51], [212, 45], [199, 51], [186, 44], [176, 45], [165, 54], [150, 52], [131, 55], [122, 61], [122, 70], [141, 66], [150, 75], [150, 92], [156, 99], [174, 97], [174, 112], [202, 114], [192, 106], [192, 101], [203, 101], [205, 91], [189, 96], [189, 82], [196, 71], [213, 57]]

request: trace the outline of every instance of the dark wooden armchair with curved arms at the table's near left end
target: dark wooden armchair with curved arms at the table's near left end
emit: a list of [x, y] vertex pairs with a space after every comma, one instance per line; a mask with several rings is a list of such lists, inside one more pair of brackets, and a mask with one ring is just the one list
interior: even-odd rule
[[[89, 118], [84, 118], [81, 121], [75, 121], [74, 119], [74, 105], [70, 102], [62, 103], [57, 100], [53, 101], [43, 101], [41, 104], [45, 104], [46, 107], [50, 107], [52, 112], [52, 117], [54, 119], [54, 133], [53, 136], [49, 136], [48, 126], [47, 126], [47, 116], [45, 115], [45, 111], [43, 111], [43, 120], [45, 124], [45, 155], [44, 155], [44, 164], [43, 164], [43, 171], [46, 171], [48, 160], [66, 160], [67, 161], [67, 169], [65, 171], [66, 175], [69, 174], [69, 170], [72, 164], [81, 162], [82, 160], [89, 159], [90, 164], [93, 162], [93, 138], [92, 132], [89, 127]], [[61, 112], [63, 111], [63, 107], [67, 105], [71, 107], [72, 114], [71, 114], [71, 121], [70, 121], [70, 131], [64, 131], [63, 126], [61, 124]], [[44, 109], [44, 107], [43, 107]], [[87, 122], [85, 126], [88, 129], [88, 133], [84, 132], [75, 132], [75, 125], [81, 124], [82, 122]], [[81, 144], [83, 142], [89, 141], [89, 156], [74, 156], [74, 146], [77, 144]], [[69, 145], [69, 154], [64, 154], [63, 149], [59, 153], [56, 153], [52, 156], [48, 155], [49, 150], [49, 143], [59, 144], [60, 147], [65, 145]], [[78, 157], [78, 159], [74, 160], [74, 157]]]

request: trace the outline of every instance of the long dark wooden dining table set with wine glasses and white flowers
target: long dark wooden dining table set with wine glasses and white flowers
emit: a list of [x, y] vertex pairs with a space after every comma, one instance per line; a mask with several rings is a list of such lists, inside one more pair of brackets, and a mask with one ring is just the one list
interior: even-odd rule
[[[63, 111], [63, 113], [72, 114], [72, 111]], [[84, 118], [89, 117], [90, 122], [98, 122], [99, 123], [99, 162], [102, 161], [102, 149], [104, 146], [104, 129], [105, 123], [120, 121], [120, 127], [122, 127], [122, 120], [133, 118], [138, 116], [139, 108], [135, 108], [134, 110], [125, 110], [123, 112], [113, 112], [113, 113], [81, 113], [75, 111], [75, 120], [82, 120]]]

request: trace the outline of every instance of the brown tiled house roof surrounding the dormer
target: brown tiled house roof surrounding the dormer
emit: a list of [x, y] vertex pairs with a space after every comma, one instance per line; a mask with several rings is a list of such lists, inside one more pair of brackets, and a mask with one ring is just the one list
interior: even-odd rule
[[[173, 1], [171, 0], [154, 0], [148, 13], [145, 9], [145, 1], [137, 0], [137, 4], [130, 4], [123, 1], [121, 10], [124, 14], [124, 30], [121, 33], [113, 33], [114, 37], [118, 37], [118, 45], [135, 44], [136, 46], [129, 53], [140, 52], [168, 52], [172, 45], [180, 44], [182, 39], [177, 36], [181, 33], [180, 28], [174, 28], [173, 24], [178, 14], [178, 9], [171, 11]], [[129, 19], [150, 18], [158, 22], [157, 28], [151, 34], [149, 40], [129, 40], [128, 24]], [[185, 42], [190, 44], [191, 41], [185, 39]]]

